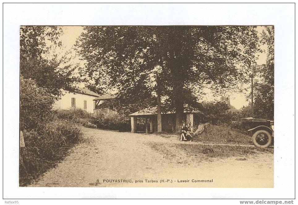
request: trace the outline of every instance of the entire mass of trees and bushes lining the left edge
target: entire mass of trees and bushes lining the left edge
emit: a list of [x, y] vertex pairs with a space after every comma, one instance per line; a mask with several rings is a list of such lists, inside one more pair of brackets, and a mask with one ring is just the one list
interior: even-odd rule
[[75, 81], [76, 66], [66, 55], [50, 58], [49, 42], [61, 46], [61, 33], [56, 26], [20, 28], [20, 130], [26, 145], [20, 148], [20, 186], [53, 167], [80, 140], [78, 126], [58, 119], [52, 111], [60, 89]]

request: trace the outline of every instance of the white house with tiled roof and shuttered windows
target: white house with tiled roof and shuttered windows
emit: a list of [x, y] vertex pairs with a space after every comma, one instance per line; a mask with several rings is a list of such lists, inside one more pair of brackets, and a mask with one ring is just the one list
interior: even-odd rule
[[100, 95], [96, 92], [90, 91], [88, 88], [79, 88], [76, 92], [70, 92], [62, 89], [62, 96], [60, 100], [57, 100], [53, 108], [54, 109], [71, 109], [81, 108], [89, 113], [94, 113], [95, 98]]

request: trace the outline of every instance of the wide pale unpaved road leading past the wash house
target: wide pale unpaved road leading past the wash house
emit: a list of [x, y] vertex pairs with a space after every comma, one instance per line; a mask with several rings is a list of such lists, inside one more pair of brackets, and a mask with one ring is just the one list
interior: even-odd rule
[[[187, 156], [171, 147], [170, 154], [152, 143], [167, 147], [178, 138], [82, 128], [84, 142], [29, 186], [58, 187], [273, 187], [273, 154], [210, 158]], [[202, 160], [200, 160], [200, 157]], [[241, 160], [241, 159], [245, 160]], [[104, 182], [104, 180], [131, 180]], [[146, 182], [155, 180], [157, 182]], [[160, 180], [164, 179], [163, 183]], [[213, 182], [192, 182], [213, 180]], [[136, 183], [136, 180], [143, 182]], [[170, 182], [167, 182], [170, 180]], [[171, 181], [172, 180], [172, 181]], [[189, 182], [181, 182], [189, 180]], [[180, 181], [180, 182], [178, 182]]]

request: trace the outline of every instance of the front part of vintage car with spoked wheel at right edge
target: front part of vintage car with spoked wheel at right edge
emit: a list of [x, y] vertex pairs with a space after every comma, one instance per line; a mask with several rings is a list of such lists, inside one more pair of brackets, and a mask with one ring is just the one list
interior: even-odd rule
[[267, 148], [273, 145], [274, 121], [247, 117], [241, 118], [241, 122], [244, 126], [250, 127], [247, 131], [256, 147]]

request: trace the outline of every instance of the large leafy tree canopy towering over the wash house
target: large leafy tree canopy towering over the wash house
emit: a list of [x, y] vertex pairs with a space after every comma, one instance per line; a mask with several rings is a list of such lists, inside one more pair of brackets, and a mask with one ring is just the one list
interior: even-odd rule
[[119, 99], [156, 95], [164, 109], [193, 107], [203, 88], [220, 92], [247, 81], [258, 49], [251, 26], [87, 26], [77, 41], [87, 60], [83, 73], [95, 84], [116, 88]]

